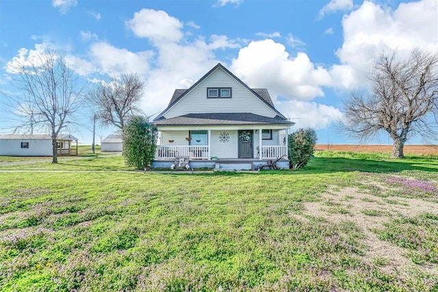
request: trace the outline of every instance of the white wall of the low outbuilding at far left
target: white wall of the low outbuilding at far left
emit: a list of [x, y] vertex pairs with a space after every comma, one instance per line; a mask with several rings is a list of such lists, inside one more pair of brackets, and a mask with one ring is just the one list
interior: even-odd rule
[[[21, 148], [21, 142], [29, 142], [29, 148]], [[10, 139], [0, 140], [0, 155], [5, 156], [51, 156], [52, 140]]]

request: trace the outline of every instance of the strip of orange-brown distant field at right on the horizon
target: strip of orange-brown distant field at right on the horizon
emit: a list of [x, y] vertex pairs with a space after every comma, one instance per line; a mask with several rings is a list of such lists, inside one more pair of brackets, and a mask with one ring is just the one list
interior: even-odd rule
[[[316, 144], [316, 150], [353, 152], [391, 152], [392, 145]], [[404, 145], [404, 153], [438, 155], [438, 145]]]

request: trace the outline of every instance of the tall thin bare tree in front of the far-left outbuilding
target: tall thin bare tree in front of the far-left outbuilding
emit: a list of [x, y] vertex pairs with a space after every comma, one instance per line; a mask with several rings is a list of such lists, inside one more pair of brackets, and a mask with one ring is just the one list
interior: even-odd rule
[[75, 72], [63, 55], [45, 47], [27, 58], [14, 58], [8, 64], [18, 93], [5, 94], [13, 113], [22, 122], [15, 131], [34, 128], [51, 134], [52, 163], [57, 163], [57, 138], [63, 129], [75, 124], [72, 115], [83, 102], [85, 83], [79, 85]]

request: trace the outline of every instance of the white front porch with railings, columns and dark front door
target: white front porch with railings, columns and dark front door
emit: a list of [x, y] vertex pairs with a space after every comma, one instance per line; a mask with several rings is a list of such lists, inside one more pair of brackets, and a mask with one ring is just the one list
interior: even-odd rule
[[188, 159], [191, 168], [254, 170], [280, 159], [289, 168], [289, 124], [213, 124], [161, 126], [153, 168], [170, 168], [175, 159]]

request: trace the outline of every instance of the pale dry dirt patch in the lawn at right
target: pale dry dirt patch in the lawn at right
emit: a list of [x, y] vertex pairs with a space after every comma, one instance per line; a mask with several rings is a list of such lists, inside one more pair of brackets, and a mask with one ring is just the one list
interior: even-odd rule
[[305, 202], [301, 215], [294, 215], [307, 221], [306, 216], [322, 217], [328, 222], [338, 224], [351, 221], [361, 230], [365, 245], [363, 261], [366, 263], [382, 262], [381, 268], [387, 272], [409, 271], [421, 267], [431, 274], [438, 274], [438, 265], [415, 265], [406, 254], [409, 250], [400, 248], [387, 241], [378, 239], [375, 229], [382, 229], [385, 222], [396, 217], [413, 217], [421, 213], [438, 215], [438, 204], [425, 200], [386, 197], [380, 198], [367, 194], [354, 187], [341, 190], [331, 189], [322, 194], [320, 202]]

